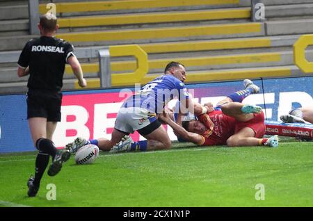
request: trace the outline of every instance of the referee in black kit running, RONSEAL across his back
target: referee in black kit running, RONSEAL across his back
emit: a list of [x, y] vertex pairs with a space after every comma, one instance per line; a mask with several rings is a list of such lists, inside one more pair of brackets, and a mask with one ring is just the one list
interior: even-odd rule
[[70, 158], [67, 150], [56, 149], [51, 141], [56, 124], [61, 121], [61, 88], [65, 63], [72, 67], [79, 86], [84, 88], [87, 85], [72, 44], [54, 38], [58, 29], [56, 16], [51, 13], [40, 16], [38, 28], [40, 38], [31, 39], [25, 44], [17, 62], [17, 75], [22, 77], [29, 74], [27, 119], [33, 145], [39, 150], [35, 161], [35, 177], [31, 176], [27, 181], [29, 197], [35, 197], [38, 193], [49, 156], [52, 156], [49, 176], [58, 174], [62, 163]]

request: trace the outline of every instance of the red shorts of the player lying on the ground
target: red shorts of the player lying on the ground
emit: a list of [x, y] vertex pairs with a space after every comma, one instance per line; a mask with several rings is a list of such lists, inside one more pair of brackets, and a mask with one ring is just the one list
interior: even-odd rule
[[236, 122], [235, 132], [237, 133], [244, 127], [250, 127], [255, 131], [255, 138], [262, 138], [265, 134], [264, 113], [254, 113], [255, 117], [247, 122]]

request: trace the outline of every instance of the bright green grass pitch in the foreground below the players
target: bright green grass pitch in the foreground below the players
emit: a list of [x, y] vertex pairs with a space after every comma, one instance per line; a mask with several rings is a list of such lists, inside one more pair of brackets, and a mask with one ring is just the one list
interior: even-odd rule
[[[168, 151], [101, 152], [92, 165], [75, 165], [72, 156], [56, 177], [46, 170], [38, 195], [29, 198], [35, 154], [0, 155], [0, 206], [313, 206], [312, 142], [285, 140], [278, 148], [176, 142]], [[56, 200], [47, 199], [49, 183]]]

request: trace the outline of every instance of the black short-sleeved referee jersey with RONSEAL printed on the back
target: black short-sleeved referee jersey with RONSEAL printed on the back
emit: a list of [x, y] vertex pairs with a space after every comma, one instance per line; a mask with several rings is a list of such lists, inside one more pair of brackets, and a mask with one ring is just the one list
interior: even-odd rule
[[74, 47], [65, 40], [41, 36], [29, 40], [17, 64], [29, 66], [29, 90], [61, 91], [67, 58], [74, 56]]

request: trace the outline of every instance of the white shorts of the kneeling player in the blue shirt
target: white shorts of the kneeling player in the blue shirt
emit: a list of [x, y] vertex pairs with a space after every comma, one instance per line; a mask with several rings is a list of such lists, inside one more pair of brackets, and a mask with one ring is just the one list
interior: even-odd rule
[[152, 133], [161, 126], [155, 113], [150, 113], [145, 108], [129, 107], [120, 108], [116, 117], [114, 128], [129, 134], [138, 131], [142, 136]]

